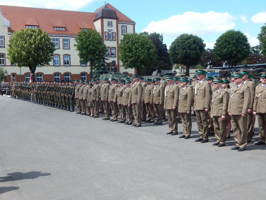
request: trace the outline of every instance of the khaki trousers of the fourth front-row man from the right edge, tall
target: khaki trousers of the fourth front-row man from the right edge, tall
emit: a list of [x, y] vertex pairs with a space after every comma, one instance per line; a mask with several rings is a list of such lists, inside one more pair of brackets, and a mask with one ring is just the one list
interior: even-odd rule
[[196, 110], [196, 120], [199, 129], [199, 137], [209, 140], [208, 113], [205, 110]]

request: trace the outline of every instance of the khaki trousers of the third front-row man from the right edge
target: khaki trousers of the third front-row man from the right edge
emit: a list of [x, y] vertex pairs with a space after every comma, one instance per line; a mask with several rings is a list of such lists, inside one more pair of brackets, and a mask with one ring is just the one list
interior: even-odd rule
[[213, 127], [216, 142], [220, 144], [225, 144], [227, 129], [226, 121], [222, 121], [222, 116], [213, 116]]

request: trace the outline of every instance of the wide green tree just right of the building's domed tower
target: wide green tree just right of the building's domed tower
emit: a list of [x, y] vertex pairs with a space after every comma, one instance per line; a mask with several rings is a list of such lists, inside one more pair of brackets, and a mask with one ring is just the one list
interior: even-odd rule
[[126, 33], [118, 45], [119, 59], [125, 69], [137, 69], [142, 75], [145, 68], [153, 68], [156, 61], [156, 49], [152, 41], [143, 34]]

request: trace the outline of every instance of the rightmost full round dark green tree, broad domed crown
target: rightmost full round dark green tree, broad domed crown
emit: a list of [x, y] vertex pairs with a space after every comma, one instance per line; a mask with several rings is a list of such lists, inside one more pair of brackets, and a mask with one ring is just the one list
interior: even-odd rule
[[213, 54], [216, 59], [227, 61], [229, 67], [236, 66], [250, 54], [248, 38], [241, 31], [226, 31], [216, 40]]

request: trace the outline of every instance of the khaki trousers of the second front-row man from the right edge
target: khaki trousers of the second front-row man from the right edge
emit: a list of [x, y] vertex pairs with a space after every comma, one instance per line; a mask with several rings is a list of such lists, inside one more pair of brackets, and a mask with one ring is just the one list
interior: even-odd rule
[[232, 127], [236, 146], [245, 149], [247, 146], [247, 116], [232, 115]]

